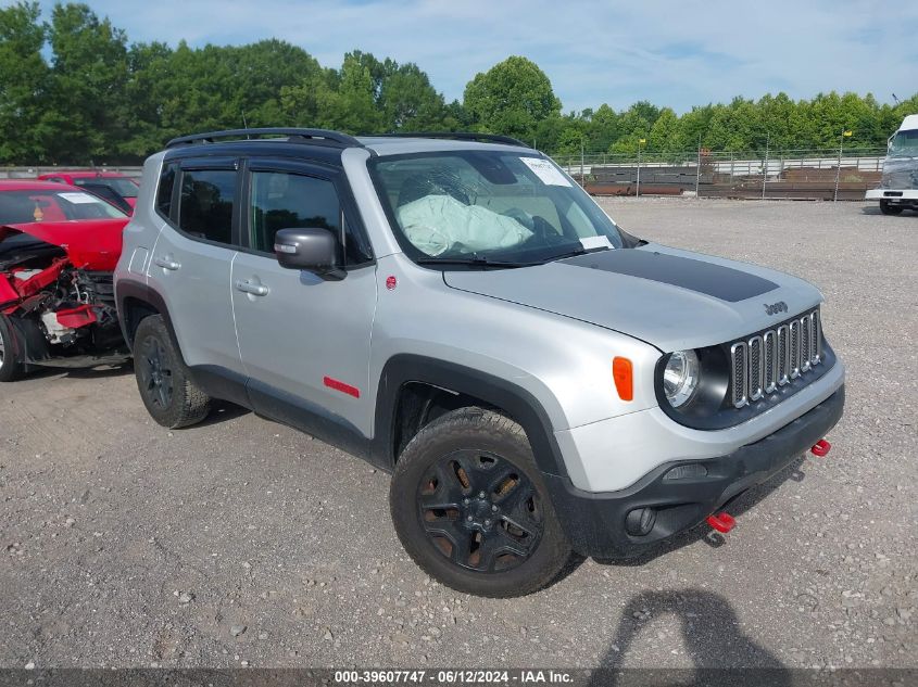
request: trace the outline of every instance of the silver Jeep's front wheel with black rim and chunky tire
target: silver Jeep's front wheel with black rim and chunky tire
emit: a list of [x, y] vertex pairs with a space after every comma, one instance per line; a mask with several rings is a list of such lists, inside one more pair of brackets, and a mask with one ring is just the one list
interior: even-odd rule
[[570, 558], [526, 433], [496, 412], [461, 408], [418, 432], [395, 466], [389, 506], [408, 555], [460, 591], [524, 596]]

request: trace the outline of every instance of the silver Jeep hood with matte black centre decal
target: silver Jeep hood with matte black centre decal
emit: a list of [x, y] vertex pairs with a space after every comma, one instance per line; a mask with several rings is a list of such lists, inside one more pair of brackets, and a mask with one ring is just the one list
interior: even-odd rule
[[[658, 244], [536, 267], [447, 271], [453, 289], [605, 327], [663, 352], [740, 339], [818, 305], [808, 282]], [[787, 310], [769, 315], [768, 305]]]

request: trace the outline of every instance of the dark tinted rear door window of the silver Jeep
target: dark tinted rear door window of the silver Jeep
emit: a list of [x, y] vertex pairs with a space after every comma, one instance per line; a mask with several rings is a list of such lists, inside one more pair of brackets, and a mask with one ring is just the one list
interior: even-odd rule
[[232, 203], [236, 171], [232, 169], [185, 169], [178, 227], [185, 233], [217, 243], [232, 243]]

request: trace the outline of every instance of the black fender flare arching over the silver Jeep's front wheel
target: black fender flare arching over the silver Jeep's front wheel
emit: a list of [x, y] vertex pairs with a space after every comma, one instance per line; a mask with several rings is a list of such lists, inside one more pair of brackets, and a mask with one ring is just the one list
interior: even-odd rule
[[402, 386], [411, 382], [431, 384], [473, 396], [505, 410], [526, 432], [539, 469], [546, 474], [567, 476], [548, 412], [531, 393], [480, 370], [413, 354], [392, 356], [379, 376], [373, 440], [373, 453], [378, 462], [395, 465], [395, 404]]

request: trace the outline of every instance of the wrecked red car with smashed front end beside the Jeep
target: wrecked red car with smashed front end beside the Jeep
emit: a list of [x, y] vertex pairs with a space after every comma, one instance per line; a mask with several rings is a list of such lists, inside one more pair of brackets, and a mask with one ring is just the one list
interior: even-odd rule
[[127, 221], [78, 188], [0, 181], [0, 382], [127, 359], [112, 289]]

